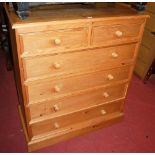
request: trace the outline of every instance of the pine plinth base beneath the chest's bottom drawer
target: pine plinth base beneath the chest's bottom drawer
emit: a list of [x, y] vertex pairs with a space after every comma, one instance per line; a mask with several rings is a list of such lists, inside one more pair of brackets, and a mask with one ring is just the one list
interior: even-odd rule
[[122, 121], [123, 116], [123, 113], [114, 113], [113, 115], [107, 117], [101, 116], [87, 122], [79, 123], [74, 126], [69, 126], [62, 132], [38, 137], [28, 143], [28, 150], [32, 152], [37, 150], [38, 148], [44, 148], [46, 146], [62, 142], [75, 136], [80, 136], [85, 133], [101, 129], [103, 127], [108, 127], [114, 123]]

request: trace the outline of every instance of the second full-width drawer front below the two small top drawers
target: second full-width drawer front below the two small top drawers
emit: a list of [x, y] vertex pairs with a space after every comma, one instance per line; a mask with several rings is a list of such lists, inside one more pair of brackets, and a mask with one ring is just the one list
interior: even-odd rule
[[28, 85], [29, 102], [58, 98], [105, 84], [128, 80], [130, 66], [89, 74], [32, 83]]

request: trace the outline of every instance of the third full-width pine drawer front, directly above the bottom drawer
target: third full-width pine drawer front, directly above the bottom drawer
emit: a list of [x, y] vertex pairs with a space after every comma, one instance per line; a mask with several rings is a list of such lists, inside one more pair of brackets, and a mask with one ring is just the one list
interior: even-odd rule
[[124, 98], [127, 84], [117, 85], [115, 87], [100, 88], [65, 97], [57, 100], [30, 104], [29, 110], [31, 119], [48, 117], [57, 117], [67, 113], [72, 113], [91, 106], [111, 102], [116, 99]]

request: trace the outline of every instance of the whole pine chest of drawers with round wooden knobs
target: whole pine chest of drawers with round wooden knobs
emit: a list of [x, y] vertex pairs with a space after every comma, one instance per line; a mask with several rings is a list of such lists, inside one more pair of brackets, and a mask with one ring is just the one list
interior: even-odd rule
[[122, 120], [146, 15], [121, 5], [55, 5], [10, 19], [29, 151]]

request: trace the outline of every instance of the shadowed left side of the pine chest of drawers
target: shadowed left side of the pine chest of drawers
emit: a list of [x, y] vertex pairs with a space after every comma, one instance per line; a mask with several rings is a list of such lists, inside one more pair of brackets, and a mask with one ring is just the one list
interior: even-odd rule
[[[16, 89], [18, 93], [18, 100], [20, 104], [20, 110], [23, 113], [23, 121], [25, 122], [25, 126], [28, 132], [28, 137], [30, 140], [31, 132], [29, 130], [28, 122], [30, 121], [30, 114], [29, 109], [25, 108], [25, 104], [27, 104], [27, 98], [25, 95], [25, 89], [23, 85], [23, 67], [20, 59], [20, 43], [19, 43], [19, 37], [15, 30], [11, 29], [11, 26], [9, 25], [10, 29], [10, 39], [11, 39], [11, 47], [12, 47], [12, 53], [13, 53], [13, 62], [14, 62], [14, 78], [16, 83]], [[21, 112], [20, 111], [20, 112]]]

